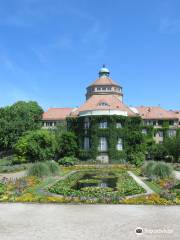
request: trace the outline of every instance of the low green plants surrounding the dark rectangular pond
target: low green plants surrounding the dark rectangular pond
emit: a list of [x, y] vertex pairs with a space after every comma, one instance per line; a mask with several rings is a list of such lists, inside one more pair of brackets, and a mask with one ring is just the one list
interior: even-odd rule
[[[99, 174], [101, 176], [106, 176], [108, 171], [104, 174], [102, 171], [92, 170], [93, 175]], [[117, 177], [117, 190], [112, 191], [111, 188], [105, 187], [86, 187], [85, 189], [76, 190], [74, 189], [74, 185], [81, 181], [81, 179], [89, 172], [79, 171], [71, 174], [67, 178], [60, 180], [53, 186], [49, 188], [49, 191], [52, 193], [60, 194], [63, 196], [69, 197], [80, 197], [83, 199], [90, 198], [98, 198], [98, 201], [119, 201], [119, 199], [123, 196], [133, 195], [138, 193], [143, 193], [144, 189], [142, 189], [128, 174], [123, 170], [115, 171], [114, 177]], [[99, 179], [99, 178], [98, 178]], [[85, 191], [84, 191], [85, 190]]]

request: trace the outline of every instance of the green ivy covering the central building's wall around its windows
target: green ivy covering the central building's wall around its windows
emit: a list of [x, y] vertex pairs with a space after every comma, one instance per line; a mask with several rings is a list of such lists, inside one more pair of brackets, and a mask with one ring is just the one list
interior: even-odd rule
[[[89, 116], [90, 128], [84, 129], [84, 117], [68, 118], [68, 129], [77, 136], [80, 159], [96, 159], [100, 137], [107, 137], [110, 161], [125, 161], [129, 153], [144, 151], [144, 138], [141, 133], [140, 117]], [[99, 122], [107, 121], [108, 128], [100, 129]], [[116, 128], [120, 122], [122, 128]], [[90, 150], [84, 151], [84, 137], [90, 139]], [[116, 148], [118, 138], [123, 139], [123, 151]]]

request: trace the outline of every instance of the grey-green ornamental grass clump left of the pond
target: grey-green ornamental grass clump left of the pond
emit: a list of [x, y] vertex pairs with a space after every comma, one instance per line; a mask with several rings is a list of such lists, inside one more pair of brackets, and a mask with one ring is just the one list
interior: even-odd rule
[[28, 176], [36, 176], [36, 177], [45, 177], [50, 175], [50, 170], [48, 168], [48, 165], [45, 163], [37, 162], [32, 164], [28, 171]]

